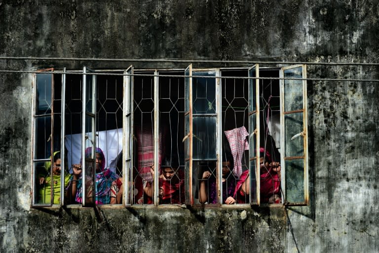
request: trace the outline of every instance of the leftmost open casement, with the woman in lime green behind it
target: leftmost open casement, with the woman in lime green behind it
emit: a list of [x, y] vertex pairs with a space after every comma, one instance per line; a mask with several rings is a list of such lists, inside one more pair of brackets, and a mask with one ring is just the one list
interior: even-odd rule
[[43, 69], [35, 75], [32, 206], [51, 206], [54, 199], [51, 166], [54, 150], [54, 75], [49, 73], [53, 70]]

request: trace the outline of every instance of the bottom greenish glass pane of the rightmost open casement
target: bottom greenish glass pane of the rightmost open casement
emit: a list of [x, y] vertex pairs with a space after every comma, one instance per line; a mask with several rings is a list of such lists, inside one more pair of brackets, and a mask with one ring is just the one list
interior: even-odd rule
[[304, 160], [286, 160], [285, 202], [303, 203], [304, 200]]

